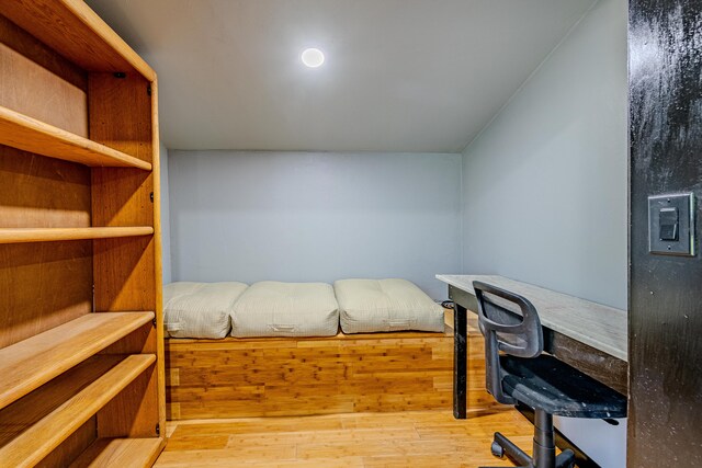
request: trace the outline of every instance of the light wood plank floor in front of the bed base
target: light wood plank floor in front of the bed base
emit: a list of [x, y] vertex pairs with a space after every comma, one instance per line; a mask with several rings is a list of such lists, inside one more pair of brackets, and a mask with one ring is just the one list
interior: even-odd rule
[[173, 421], [156, 467], [408, 468], [512, 466], [490, 455], [500, 431], [531, 448], [517, 411], [453, 419], [451, 411]]

